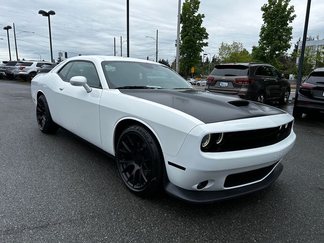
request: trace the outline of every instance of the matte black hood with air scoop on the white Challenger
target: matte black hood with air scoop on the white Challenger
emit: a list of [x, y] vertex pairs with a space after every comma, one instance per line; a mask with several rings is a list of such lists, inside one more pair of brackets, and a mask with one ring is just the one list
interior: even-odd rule
[[185, 112], [204, 123], [217, 123], [266, 115], [284, 114], [274, 107], [196, 89], [135, 90], [120, 89], [121, 93], [149, 100]]

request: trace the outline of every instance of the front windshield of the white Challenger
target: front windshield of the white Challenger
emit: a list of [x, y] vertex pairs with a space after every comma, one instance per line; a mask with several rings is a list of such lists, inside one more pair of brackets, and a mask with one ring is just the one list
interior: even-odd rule
[[104, 61], [102, 67], [110, 89], [193, 89], [175, 71], [159, 64]]

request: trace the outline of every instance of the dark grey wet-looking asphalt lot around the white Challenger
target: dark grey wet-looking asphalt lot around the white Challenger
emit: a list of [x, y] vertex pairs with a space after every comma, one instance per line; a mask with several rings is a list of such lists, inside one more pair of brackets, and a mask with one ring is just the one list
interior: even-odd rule
[[0, 242], [324, 242], [324, 115], [294, 130], [266, 190], [209, 205], [140, 198], [113, 159], [38, 130], [29, 83], [0, 80]]

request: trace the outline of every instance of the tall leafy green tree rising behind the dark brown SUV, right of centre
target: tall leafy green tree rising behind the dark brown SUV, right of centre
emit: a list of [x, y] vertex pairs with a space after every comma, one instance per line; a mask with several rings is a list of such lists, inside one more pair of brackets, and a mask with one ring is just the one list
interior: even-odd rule
[[259, 34], [259, 46], [253, 46], [254, 61], [270, 63], [280, 69], [278, 58], [291, 47], [293, 27], [296, 18], [290, 0], [268, 0], [261, 7], [263, 24]]

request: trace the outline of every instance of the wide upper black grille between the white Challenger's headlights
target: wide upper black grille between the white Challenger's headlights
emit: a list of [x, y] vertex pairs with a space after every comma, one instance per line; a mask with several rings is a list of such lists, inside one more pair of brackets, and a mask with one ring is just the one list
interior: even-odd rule
[[[292, 126], [293, 121], [288, 124], [287, 128], [282, 125], [274, 128], [224, 133], [224, 139], [220, 144], [211, 142], [208, 147], [200, 147], [200, 149], [203, 152], [228, 152], [269, 146], [287, 138]], [[212, 134], [211, 141], [214, 141], [213, 136], [216, 135], [219, 136], [219, 134]]]

